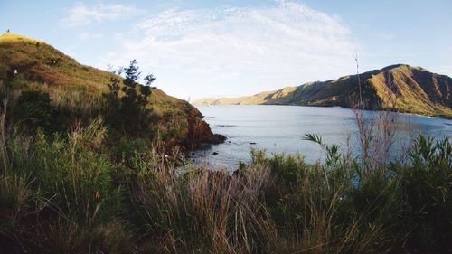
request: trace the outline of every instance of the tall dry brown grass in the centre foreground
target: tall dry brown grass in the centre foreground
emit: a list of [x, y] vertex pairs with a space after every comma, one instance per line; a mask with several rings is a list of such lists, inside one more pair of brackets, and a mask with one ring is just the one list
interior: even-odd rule
[[146, 234], [163, 243], [154, 251], [252, 253], [263, 247], [272, 227], [258, 200], [267, 182], [265, 170], [240, 178], [206, 170], [175, 179], [158, 173], [140, 181], [134, 200]]

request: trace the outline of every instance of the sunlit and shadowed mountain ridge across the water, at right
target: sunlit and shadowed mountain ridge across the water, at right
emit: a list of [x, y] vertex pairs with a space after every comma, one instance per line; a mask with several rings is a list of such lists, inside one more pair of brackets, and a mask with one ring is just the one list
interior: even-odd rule
[[[359, 75], [368, 109], [395, 109], [428, 116], [452, 116], [452, 78], [420, 67], [396, 64]], [[194, 105], [303, 105], [353, 108], [360, 101], [358, 75], [316, 81], [239, 98], [200, 99]]]

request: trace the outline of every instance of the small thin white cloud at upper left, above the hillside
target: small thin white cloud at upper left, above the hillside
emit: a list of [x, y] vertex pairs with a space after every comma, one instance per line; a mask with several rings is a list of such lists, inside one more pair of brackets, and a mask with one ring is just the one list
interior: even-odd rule
[[133, 5], [104, 5], [100, 2], [97, 5], [88, 6], [78, 3], [69, 10], [68, 16], [61, 20], [61, 24], [68, 27], [81, 26], [137, 14], [143, 14], [143, 12]]

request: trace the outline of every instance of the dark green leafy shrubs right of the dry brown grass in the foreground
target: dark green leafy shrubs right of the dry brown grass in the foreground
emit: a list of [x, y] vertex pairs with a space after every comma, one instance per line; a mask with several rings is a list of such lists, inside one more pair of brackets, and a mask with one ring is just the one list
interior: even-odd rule
[[[262, 198], [278, 232], [296, 238], [292, 244], [320, 238], [328, 245], [317, 253], [376, 253], [396, 242], [426, 253], [450, 248], [448, 136], [437, 141], [419, 136], [410, 149], [410, 162], [380, 165], [365, 173], [360, 165], [346, 162], [338, 149], [326, 148], [320, 136], [308, 135], [306, 140], [325, 148], [325, 165], [297, 163], [292, 155], [252, 153], [254, 165], [272, 169], [276, 184]], [[335, 163], [328, 163], [334, 157]], [[243, 165], [240, 172], [246, 172]]]

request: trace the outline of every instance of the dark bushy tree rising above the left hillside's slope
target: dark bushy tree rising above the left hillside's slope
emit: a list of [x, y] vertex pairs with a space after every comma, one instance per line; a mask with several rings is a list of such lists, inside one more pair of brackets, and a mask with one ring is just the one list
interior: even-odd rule
[[104, 94], [106, 121], [110, 127], [129, 136], [147, 136], [151, 131], [153, 114], [146, 106], [151, 96], [151, 84], [156, 79], [152, 74], [147, 75], [144, 79], [146, 85], [138, 84], [141, 72], [136, 60], [130, 61], [127, 68], [117, 73], [124, 73], [123, 86], [117, 78], [108, 83], [109, 92]]

